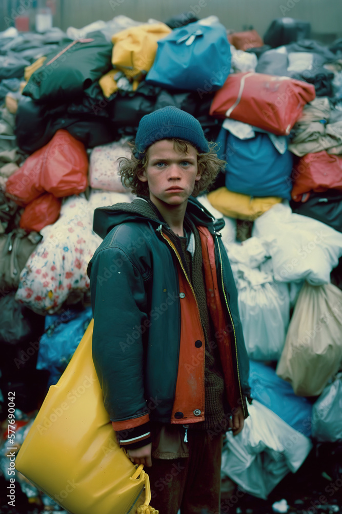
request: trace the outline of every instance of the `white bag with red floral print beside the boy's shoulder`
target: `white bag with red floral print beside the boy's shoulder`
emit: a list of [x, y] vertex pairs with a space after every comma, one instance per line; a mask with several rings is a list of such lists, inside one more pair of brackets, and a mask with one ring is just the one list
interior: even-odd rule
[[43, 240], [23, 269], [16, 300], [38, 314], [54, 314], [71, 295], [75, 301], [89, 290], [87, 266], [102, 239], [92, 230], [96, 207], [131, 201], [130, 195], [93, 192], [89, 201], [65, 199], [54, 225], [41, 230]]

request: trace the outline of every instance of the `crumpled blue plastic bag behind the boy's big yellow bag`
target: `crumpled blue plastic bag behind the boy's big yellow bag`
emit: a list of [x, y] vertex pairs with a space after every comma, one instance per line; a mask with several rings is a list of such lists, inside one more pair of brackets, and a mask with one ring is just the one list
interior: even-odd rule
[[46, 317], [36, 368], [50, 371], [49, 385], [62, 376], [92, 317], [91, 307], [82, 311], [67, 309], [61, 315]]

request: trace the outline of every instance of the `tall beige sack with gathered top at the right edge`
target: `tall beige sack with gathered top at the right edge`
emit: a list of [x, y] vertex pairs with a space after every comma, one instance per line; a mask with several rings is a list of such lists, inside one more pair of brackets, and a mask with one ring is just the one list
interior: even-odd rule
[[332, 284], [300, 290], [277, 365], [298, 396], [318, 396], [342, 361], [342, 291]]

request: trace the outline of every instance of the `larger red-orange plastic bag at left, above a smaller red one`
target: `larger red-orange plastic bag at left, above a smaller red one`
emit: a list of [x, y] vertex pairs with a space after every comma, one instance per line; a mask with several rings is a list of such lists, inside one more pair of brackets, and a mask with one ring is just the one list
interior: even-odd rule
[[79, 194], [88, 186], [88, 157], [84, 144], [58, 130], [51, 141], [28, 157], [9, 177], [6, 192], [27, 205], [44, 191], [56, 197]]

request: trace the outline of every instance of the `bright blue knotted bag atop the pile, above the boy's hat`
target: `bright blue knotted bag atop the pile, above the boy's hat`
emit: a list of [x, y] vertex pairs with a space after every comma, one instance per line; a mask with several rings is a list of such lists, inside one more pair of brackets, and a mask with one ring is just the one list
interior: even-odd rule
[[203, 21], [189, 23], [158, 41], [146, 82], [166, 88], [197, 90], [198, 94], [205, 95], [224, 85], [230, 61], [230, 45], [223, 25], [207, 26]]

